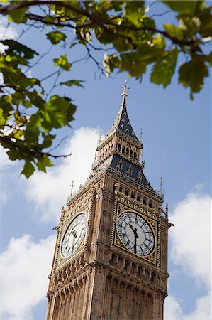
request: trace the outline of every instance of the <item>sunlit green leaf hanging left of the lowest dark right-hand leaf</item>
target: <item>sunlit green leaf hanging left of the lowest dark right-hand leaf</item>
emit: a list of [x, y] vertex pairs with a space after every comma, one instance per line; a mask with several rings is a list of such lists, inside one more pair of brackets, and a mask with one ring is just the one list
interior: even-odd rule
[[167, 87], [174, 75], [176, 63], [177, 63], [178, 50], [174, 49], [169, 53], [166, 53], [162, 59], [155, 63], [152, 73], [150, 75], [150, 81], [156, 85], [163, 85]]

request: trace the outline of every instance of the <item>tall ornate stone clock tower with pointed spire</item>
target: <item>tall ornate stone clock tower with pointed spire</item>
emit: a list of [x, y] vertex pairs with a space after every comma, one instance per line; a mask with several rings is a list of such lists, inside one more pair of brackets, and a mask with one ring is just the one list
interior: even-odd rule
[[162, 320], [167, 208], [143, 174], [127, 87], [91, 174], [57, 226], [47, 320]]

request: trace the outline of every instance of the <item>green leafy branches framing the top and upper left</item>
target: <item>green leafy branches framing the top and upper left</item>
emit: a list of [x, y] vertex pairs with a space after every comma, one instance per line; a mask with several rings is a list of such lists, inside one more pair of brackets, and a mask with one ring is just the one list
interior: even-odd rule
[[[177, 23], [164, 23], [161, 29], [157, 14], [151, 14], [145, 1], [1, 1], [0, 13], [9, 21], [26, 25], [25, 31], [29, 25], [42, 28], [47, 41], [62, 49], [62, 54], [53, 58], [54, 73], [44, 79], [30, 78], [27, 71], [42, 55], [19, 41], [1, 40], [6, 49], [0, 54], [4, 78], [0, 86], [0, 139], [9, 159], [25, 161], [21, 173], [26, 178], [35, 167], [45, 171], [52, 166], [50, 158], [58, 157], [49, 150], [55, 142], [55, 130], [70, 126], [74, 119], [72, 100], [53, 93], [62, 85], [83, 87], [83, 80], [59, 80], [69, 74], [74, 63], [89, 58], [100, 75], [127, 72], [138, 80], [151, 66], [150, 81], [163, 87], [171, 83], [177, 70], [179, 84], [190, 89], [191, 99], [201, 90], [212, 60], [206, 48], [212, 38], [211, 6], [202, 0], [162, 2], [163, 14], [171, 10]], [[68, 31], [73, 31], [72, 36]], [[67, 54], [77, 45], [87, 54], [70, 62]], [[104, 53], [102, 62], [96, 52]], [[52, 89], [47, 92], [44, 81], [53, 76]]]

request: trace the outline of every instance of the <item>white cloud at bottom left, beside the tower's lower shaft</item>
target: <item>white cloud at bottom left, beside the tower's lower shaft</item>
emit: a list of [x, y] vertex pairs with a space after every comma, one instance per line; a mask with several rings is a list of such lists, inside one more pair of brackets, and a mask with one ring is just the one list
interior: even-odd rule
[[12, 238], [1, 254], [1, 319], [31, 319], [31, 309], [48, 290], [55, 236], [34, 242], [30, 235]]

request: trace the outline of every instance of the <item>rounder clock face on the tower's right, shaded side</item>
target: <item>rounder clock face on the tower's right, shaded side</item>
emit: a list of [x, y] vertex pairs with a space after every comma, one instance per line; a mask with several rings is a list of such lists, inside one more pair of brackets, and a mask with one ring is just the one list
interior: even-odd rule
[[135, 255], [150, 255], [155, 237], [150, 225], [137, 213], [125, 212], [118, 217], [118, 236], [125, 247]]

